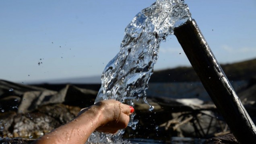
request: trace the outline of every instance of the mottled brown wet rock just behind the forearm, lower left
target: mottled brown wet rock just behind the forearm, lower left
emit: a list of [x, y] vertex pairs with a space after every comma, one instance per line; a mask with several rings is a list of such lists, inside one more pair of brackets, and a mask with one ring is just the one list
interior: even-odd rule
[[60, 103], [43, 105], [26, 114], [0, 113], [0, 137], [38, 138], [69, 122], [80, 110], [80, 107]]

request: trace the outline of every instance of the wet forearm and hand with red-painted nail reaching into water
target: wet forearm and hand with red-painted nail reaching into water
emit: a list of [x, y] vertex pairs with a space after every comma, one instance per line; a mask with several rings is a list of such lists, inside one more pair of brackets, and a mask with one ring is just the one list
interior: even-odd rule
[[133, 112], [133, 107], [119, 101], [100, 101], [82, 109], [72, 121], [45, 134], [33, 144], [85, 144], [94, 130], [114, 134], [126, 128]]

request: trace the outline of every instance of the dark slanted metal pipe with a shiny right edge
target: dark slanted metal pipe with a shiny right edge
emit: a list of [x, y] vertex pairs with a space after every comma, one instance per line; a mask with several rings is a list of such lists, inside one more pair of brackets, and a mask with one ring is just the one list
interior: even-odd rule
[[256, 127], [215, 59], [195, 20], [175, 28], [174, 34], [235, 138], [241, 144], [256, 144]]

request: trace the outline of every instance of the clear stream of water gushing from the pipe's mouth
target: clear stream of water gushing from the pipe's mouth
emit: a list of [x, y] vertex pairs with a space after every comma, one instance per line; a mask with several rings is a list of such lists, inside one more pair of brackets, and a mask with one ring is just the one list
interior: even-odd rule
[[[95, 103], [104, 99], [115, 99], [134, 106], [134, 99], [142, 98], [157, 61], [159, 44], [173, 34], [173, 28], [191, 20], [189, 8], [183, 0], [157, 0], [139, 12], [125, 29], [120, 52], [105, 67], [101, 77], [101, 88]], [[148, 103], [149, 104], [149, 103]], [[153, 110], [149, 104], [149, 110]], [[136, 128], [138, 121], [130, 116], [128, 126]], [[124, 144], [122, 134], [94, 132], [87, 143]]]

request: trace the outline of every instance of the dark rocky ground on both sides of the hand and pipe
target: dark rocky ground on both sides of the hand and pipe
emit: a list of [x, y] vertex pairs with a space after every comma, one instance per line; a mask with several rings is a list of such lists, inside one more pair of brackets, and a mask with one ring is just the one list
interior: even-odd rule
[[[238, 93], [253, 120], [256, 120], [255, 86], [254, 79]], [[29, 143], [72, 120], [81, 108], [93, 104], [96, 95], [97, 91], [74, 85], [53, 91], [0, 81], [0, 143]], [[205, 144], [238, 144], [212, 103], [196, 98], [148, 97], [147, 100], [155, 109], [149, 111], [149, 105], [134, 100], [137, 128], [127, 128], [124, 138], [168, 143], [171, 137], [191, 137], [208, 139]]]

